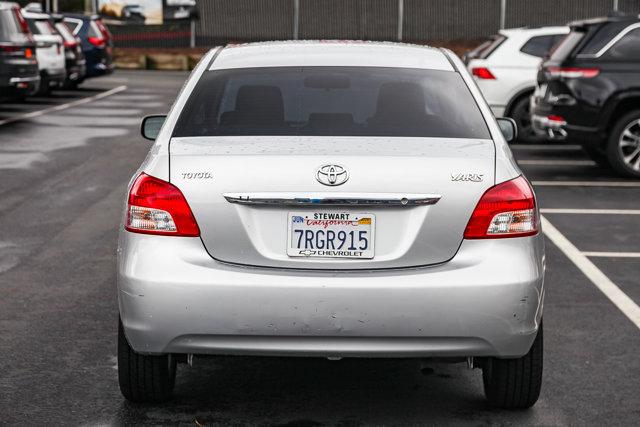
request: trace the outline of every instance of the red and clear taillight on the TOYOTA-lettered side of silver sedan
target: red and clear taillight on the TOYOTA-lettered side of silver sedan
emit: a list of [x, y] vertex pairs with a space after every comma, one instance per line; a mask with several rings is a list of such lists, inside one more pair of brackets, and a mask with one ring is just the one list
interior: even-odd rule
[[165, 236], [200, 235], [198, 223], [182, 192], [173, 184], [140, 174], [131, 186], [125, 229]]

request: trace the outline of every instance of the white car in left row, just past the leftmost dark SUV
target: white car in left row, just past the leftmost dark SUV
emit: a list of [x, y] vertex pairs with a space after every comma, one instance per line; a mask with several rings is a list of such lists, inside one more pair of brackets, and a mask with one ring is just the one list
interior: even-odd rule
[[46, 13], [22, 9], [22, 16], [27, 20], [36, 41], [36, 57], [40, 68], [37, 94], [46, 95], [52, 88], [61, 87], [67, 77], [63, 39]]

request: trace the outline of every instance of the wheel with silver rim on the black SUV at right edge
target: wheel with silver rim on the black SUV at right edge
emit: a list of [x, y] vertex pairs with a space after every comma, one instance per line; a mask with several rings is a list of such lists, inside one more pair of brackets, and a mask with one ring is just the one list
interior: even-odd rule
[[620, 175], [640, 178], [640, 110], [623, 115], [611, 129], [607, 158]]

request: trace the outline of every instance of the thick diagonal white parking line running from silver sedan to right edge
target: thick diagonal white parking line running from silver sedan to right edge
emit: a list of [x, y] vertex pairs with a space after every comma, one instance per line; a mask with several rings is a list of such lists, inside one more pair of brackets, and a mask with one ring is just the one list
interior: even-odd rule
[[640, 329], [640, 307], [615, 283], [576, 248], [545, 217], [542, 217], [544, 234], [573, 262], [589, 280]]

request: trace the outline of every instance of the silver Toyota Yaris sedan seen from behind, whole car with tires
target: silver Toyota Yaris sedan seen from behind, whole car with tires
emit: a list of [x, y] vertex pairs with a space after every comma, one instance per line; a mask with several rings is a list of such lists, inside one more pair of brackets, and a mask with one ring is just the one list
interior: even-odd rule
[[118, 249], [127, 399], [168, 399], [177, 363], [213, 354], [466, 361], [491, 404], [536, 402], [536, 200], [513, 122], [451, 52], [217, 48], [142, 131]]

